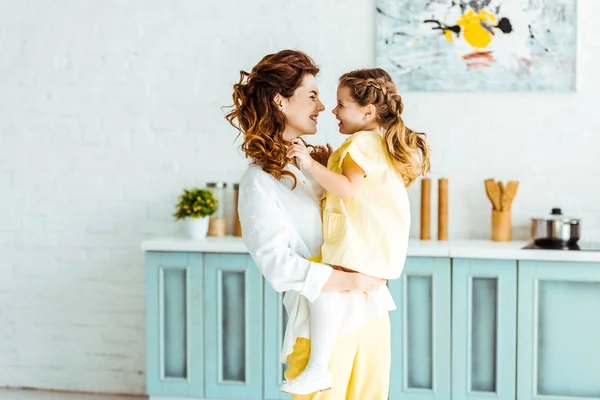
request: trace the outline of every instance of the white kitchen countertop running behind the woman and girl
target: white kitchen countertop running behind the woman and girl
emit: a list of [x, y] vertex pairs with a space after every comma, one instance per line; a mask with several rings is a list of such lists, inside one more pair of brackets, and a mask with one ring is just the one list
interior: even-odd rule
[[[523, 250], [528, 242], [492, 242], [491, 240], [417, 240], [408, 244], [409, 257], [488, 258], [505, 260], [600, 262], [600, 251]], [[145, 251], [184, 251], [200, 253], [247, 253], [239, 237], [185, 237], [147, 240]]]

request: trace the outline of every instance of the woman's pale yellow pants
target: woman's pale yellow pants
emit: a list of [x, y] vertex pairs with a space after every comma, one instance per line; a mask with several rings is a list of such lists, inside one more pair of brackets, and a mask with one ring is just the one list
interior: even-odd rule
[[[310, 356], [310, 340], [298, 338], [288, 356], [286, 379], [304, 370]], [[390, 319], [372, 319], [357, 331], [339, 337], [334, 345], [329, 370], [331, 390], [292, 400], [387, 400], [390, 386]]]

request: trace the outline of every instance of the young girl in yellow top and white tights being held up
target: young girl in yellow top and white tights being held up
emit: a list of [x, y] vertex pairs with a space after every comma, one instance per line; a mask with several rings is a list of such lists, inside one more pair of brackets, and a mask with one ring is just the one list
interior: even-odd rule
[[[330, 157], [328, 167], [314, 161], [295, 139], [288, 157], [325, 189], [322, 262], [382, 279], [402, 274], [408, 246], [410, 206], [406, 187], [429, 171], [425, 134], [402, 121], [402, 98], [390, 75], [363, 69], [342, 75], [333, 114], [340, 133], [351, 135]], [[393, 299], [365, 293], [395, 308]], [[321, 293], [309, 303], [310, 359], [304, 371], [281, 390], [306, 395], [331, 388], [328, 370], [340, 334], [337, 301], [344, 294]]]

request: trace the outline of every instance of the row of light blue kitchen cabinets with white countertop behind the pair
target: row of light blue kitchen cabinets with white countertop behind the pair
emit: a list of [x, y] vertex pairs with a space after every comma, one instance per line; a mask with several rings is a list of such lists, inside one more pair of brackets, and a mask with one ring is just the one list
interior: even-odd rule
[[[391, 400], [600, 400], [600, 253], [516, 246], [409, 246], [388, 282]], [[282, 294], [240, 242], [145, 250], [150, 398], [291, 399]]]

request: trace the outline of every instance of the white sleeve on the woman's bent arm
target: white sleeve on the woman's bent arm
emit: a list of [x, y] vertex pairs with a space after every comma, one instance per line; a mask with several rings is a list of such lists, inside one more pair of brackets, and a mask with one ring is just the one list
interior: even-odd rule
[[333, 268], [292, 251], [293, 227], [275, 199], [260, 188], [240, 190], [238, 213], [244, 244], [273, 289], [293, 290], [314, 301]]

